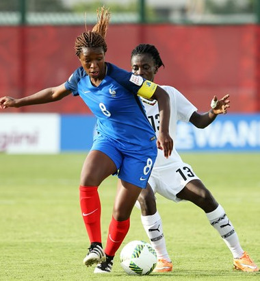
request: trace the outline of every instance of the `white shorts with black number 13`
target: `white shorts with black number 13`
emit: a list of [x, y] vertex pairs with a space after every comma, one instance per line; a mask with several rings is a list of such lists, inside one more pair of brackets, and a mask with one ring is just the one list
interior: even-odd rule
[[159, 193], [166, 199], [179, 202], [176, 195], [191, 180], [200, 180], [189, 164], [184, 162], [175, 163], [174, 166], [166, 168], [154, 168], [148, 180], [154, 193]]

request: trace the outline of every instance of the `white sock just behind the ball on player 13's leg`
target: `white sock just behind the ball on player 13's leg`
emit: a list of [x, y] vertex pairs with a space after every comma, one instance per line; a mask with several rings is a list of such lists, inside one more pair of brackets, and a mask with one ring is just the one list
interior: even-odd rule
[[166, 243], [164, 239], [164, 232], [161, 222], [161, 217], [159, 212], [155, 212], [155, 215], [151, 216], [142, 216], [142, 225], [148, 238], [150, 239], [151, 245], [155, 248], [157, 254], [157, 259], [164, 259], [170, 261], [168, 252], [166, 249]]

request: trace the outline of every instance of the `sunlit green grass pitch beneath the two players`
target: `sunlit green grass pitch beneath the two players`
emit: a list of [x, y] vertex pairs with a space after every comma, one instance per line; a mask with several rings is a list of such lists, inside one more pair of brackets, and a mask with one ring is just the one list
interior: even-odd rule
[[[260, 265], [260, 154], [182, 154], [233, 222], [242, 247]], [[260, 280], [233, 271], [229, 249], [190, 202], [157, 195], [172, 273], [127, 276], [119, 253], [132, 240], [148, 241], [134, 208], [131, 227], [109, 275], [94, 275], [83, 257], [89, 246], [79, 208], [84, 154], [0, 154], [0, 280]], [[115, 177], [99, 188], [105, 245], [116, 193]]]

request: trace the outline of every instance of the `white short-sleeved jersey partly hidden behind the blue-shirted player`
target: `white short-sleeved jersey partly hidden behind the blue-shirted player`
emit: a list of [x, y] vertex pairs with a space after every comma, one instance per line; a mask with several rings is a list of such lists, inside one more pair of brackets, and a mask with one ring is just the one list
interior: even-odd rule
[[[170, 136], [173, 141], [176, 139], [177, 121], [189, 122], [192, 113], [197, 110], [197, 108], [188, 101], [180, 92], [171, 86], [160, 86], [170, 96]], [[149, 101], [147, 99], [141, 98], [144, 108], [146, 110], [146, 115], [149, 122], [155, 130], [156, 136], [159, 134], [159, 108], [156, 100]], [[177, 162], [182, 162], [181, 156], [177, 153], [175, 147], [172, 149], [172, 155], [169, 158], [164, 157], [164, 151], [158, 149], [158, 155], [155, 161], [153, 169], [159, 169], [160, 167], [167, 167], [176, 165]]]

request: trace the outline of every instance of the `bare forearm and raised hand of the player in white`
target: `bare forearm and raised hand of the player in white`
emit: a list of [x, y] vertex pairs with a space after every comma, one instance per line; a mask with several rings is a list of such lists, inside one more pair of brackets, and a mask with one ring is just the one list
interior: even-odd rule
[[199, 114], [194, 111], [190, 117], [190, 123], [192, 123], [195, 127], [204, 129], [216, 119], [218, 114], [226, 114], [227, 108], [230, 108], [230, 101], [228, 98], [229, 95], [225, 95], [222, 99], [218, 100], [218, 98], [214, 96], [213, 100], [218, 101], [216, 108], [211, 108], [209, 112], [205, 112], [203, 114]]

